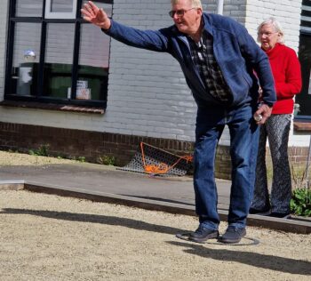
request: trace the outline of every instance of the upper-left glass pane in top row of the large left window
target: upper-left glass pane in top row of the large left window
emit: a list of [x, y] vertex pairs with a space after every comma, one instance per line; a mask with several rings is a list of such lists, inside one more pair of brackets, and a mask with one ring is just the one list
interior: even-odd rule
[[16, 17], [41, 17], [44, 1], [16, 0]]

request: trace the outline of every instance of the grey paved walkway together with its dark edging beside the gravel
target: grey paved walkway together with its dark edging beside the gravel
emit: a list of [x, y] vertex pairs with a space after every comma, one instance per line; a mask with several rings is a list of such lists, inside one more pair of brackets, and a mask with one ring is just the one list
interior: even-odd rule
[[[21, 182], [25, 189], [195, 215], [190, 177], [151, 177], [93, 164], [0, 166], [0, 189]], [[231, 181], [217, 180], [219, 214], [227, 219]], [[311, 233], [310, 220], [250, 215], [249, 225]]]

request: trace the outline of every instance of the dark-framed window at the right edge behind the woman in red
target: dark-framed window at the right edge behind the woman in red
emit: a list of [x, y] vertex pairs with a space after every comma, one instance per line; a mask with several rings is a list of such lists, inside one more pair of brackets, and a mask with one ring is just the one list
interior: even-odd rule
[[302, 1], [299, 36], [299, 61], [301, 65], [302, 89], [296, 96], [299, 112], [295, 119], [311, 119], [311, 3]]

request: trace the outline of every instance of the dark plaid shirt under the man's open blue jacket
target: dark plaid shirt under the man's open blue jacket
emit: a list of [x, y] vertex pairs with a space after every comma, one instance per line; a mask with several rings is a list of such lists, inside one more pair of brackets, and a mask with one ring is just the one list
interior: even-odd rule
[[214, 57], [211, 35], [203, 32], [198, 43], [195, 43], [190, 37], [188, 37], [188, 42], [192, 52], [192, 59], [199, 70], [205, 87], [216, 100], [225, 103], [230, 101], [230, 90]]

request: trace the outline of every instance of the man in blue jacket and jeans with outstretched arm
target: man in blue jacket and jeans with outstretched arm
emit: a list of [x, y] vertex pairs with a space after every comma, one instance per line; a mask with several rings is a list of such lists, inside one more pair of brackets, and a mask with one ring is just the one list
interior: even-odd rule
[[[258, 125], [275, 103], [275, 86], [267, 55], [235, 20], [203, 12], [199, 0], [171, 0], [174, 25], [159, 30], [130, 28], [108, 18], [89, 1], [84, 20], [108, 36], [138, 48], [168, 52], [179, 61], [197, 104], [195, 127], [195, 211], [199, 227], [189, 239], [218, 238], [238, 243], [246, 235], [258, 151]], [[263, 104], [258, 108], [259, 84]], [[253, 116], [261, 116], [255, 121]], [[214, 160], [227, 124], [230, 132], [232, 186], [226, 233], [219, 237]]]

